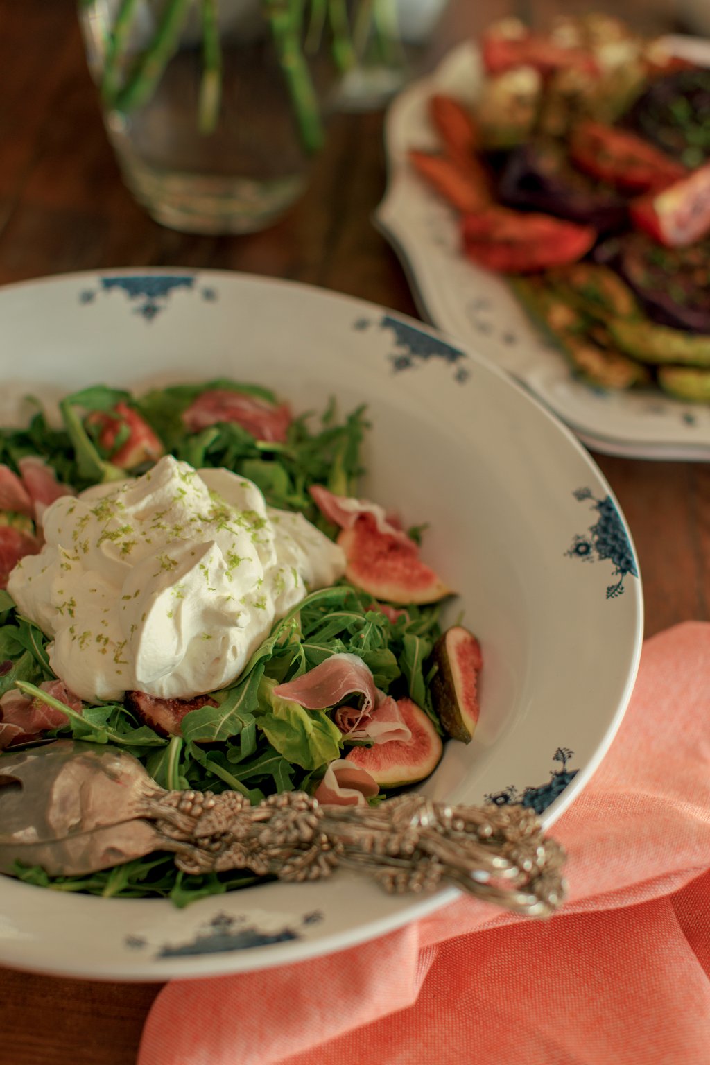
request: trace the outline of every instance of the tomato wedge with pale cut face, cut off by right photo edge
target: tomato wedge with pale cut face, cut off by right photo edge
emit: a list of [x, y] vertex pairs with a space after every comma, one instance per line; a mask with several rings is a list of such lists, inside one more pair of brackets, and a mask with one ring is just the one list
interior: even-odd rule
[[710, 232], [710, 163], [660, 193], [631, 203], [637, 229], [667, 248], [686, 248]]

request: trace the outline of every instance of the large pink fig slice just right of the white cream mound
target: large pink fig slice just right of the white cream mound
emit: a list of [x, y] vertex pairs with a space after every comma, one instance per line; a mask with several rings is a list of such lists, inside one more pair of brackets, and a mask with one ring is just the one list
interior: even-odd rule
[[381, 532], [371, 514], [361, 514], [337, 542], [345, 552], [345, 576], [378, 600], [389, 603], [435, 603], [450, 589], [419, 558], [412, 540]]

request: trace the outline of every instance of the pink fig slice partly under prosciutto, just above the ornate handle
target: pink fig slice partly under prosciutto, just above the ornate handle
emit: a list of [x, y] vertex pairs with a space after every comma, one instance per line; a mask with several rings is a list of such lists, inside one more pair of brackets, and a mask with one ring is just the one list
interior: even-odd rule
[[381, 788], [400, 788], [416, 784], [433, 773], [444, 744], [432, 722], [411, 699], [398, 699], [404, 723], [412, 736], [407, 741], [393, 739], [374, 747], [354, 747], [346, 761], [366, 769]]

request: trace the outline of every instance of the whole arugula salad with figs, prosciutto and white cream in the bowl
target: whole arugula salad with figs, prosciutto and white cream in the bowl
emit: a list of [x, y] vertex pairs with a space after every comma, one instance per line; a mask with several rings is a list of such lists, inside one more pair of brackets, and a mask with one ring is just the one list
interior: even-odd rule
[[[61, 428], [40, 410], [0, 435], [0, 747], [111, 742], [172, 790], [365, 805], [428, 776], [443, 736], [472, 739], [478, 640], [442, 633], [422, 530], [349, 494], [362, 407], [314, 430], [217, 380], [60, 409]], [[254, 880], [115, 846], [52, 876], [45, 853], [27, 841], [5, 871], [178, 904]]]

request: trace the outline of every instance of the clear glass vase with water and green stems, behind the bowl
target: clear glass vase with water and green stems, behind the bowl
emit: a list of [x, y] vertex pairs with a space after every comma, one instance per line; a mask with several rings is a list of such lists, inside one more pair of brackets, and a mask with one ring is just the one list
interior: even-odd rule
[[244, 233], [302, 193], [332, 73], [292, 0], [81, 0], [92, 76], [123, 180], [159, 223]]

